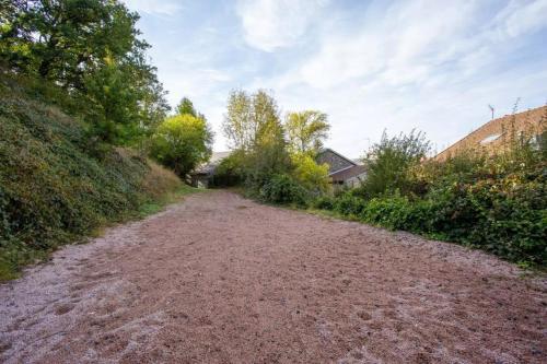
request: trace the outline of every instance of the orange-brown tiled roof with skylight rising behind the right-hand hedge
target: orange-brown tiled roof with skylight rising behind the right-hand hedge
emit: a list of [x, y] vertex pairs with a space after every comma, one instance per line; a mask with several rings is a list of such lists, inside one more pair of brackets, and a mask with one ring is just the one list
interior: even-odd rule
[[462, 152], [485, 151], [496, 154], [511, 142], [512, 137], [531, 136], [538, 144], [545, 142], [547, 127], [547, 106], [534, 108], [524, 113], [505, 115], [493, 119], [455, 142], [434, 158], [444, 161]]

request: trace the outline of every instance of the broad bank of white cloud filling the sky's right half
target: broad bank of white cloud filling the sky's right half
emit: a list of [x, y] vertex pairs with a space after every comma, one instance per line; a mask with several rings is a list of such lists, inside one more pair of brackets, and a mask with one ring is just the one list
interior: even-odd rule
[[520, 51], [516, 38], [547, 27], [532, 15], [543, 2], [520, 2], [489, 23], [484, 2], [397, 2], [360, 30], [323, 30], [315, 55], [253, 87], [276, 90], [286, 109], [326, 111], [330, 145], [350, 156], [384, 128], [424, 130], [441, 150], [488, 120], [489, 103], [502, 115], [519, 96], [525, 107], [545, 102], [546, 72], [505, 64], [491, 74]]

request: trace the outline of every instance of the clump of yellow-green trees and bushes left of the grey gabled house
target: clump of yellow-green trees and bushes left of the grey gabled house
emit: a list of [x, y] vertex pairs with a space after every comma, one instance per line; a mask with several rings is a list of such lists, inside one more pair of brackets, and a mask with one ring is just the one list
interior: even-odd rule
[[303, 203], [310, 196], [327, 193], [328, 166], [317, 165], [313, 156], [328, 128], [326, 115], [318, 111], [292, 113], [283, 126], [276, 101], [265, 91], [233, 91], [223, 129], [234, 153], [217, 168], [213, 180], [243, 183], [264, 200], [278, 203]]

